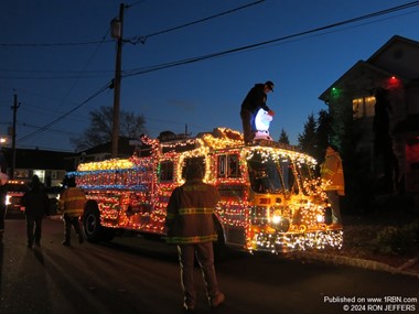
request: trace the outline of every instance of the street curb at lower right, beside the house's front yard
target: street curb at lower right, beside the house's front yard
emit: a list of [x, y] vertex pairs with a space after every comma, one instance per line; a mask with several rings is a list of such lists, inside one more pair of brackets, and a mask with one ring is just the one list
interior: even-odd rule
[[345, 266], [369, 269], [369, 270], [375, 270], [375, 271], [386, 271], [386, 272], [390, 272], [395, 274], [411, 275], [419, 279], [418, 272], [408, 270], [408, 268], [419, 262], [419, 257], [410, 259], [405, 264], [396, 268], [383, 262], [358, 259], [358, 258], [351, 258], [351, 257], [334, 256], [334, 255], [327, 255], [327, 253], [294, 252], [293, 256], [299, 259], [316, 260], [316, 261], [329, 262], [329, 263], [334, 263], [334, 264], [345, 264]]

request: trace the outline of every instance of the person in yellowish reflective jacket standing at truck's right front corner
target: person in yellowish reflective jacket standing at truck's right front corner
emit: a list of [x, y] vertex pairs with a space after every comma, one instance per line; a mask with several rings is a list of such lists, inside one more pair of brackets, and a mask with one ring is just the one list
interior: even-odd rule
[[341, 155], [333, 145], [329, 145], [326, 149], [320, 174], [325, 184], [324, 191], [332, 207], [332, 221], [333, 224], [342, 225], [340, 202], [341, 196], [345, 195], [345, 181]]

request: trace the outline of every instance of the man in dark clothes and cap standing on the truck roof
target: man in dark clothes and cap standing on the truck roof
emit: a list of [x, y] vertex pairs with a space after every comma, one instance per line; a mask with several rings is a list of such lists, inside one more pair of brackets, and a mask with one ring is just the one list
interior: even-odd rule
[[255, 84], [246, 95], [245, 100], [243, 100], [240, 118], [245, 144], [251, 144], [254, 141], [256, 132], [255, 117], [258, 113], [258, 110], [262, 108], [268, 115], [275, 115], [275, 112], [266, 105], [269, 91], [273, 91], [273, 83], [271, 80], [268, 80], [265, 84]]

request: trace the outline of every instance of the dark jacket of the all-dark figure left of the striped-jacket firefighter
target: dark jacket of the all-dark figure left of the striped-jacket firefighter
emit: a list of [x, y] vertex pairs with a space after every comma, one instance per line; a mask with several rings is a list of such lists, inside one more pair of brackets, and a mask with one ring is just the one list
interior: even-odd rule
[[42, 187], [35, 187], [26, 192], [22, 197], [24, 214], [34, 218], [42, 218], [50, 213], [50, 198]]

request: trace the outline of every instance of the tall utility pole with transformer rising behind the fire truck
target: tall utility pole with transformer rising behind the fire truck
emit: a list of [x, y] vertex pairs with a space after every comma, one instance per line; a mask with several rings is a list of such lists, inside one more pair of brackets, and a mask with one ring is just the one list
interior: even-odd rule
[[111, 22], [111, 36], [117, 40], [117, 59], [114, 78], [114, 121], [112, 121], [112, 152], [111, 156], [118, 156], [118, 140], [119, 140], [119, 100], [121, 85], [121, 59], [123, 44], [123, 9], [125, 4], [119, 6], [119, 18], [115, 18]]

